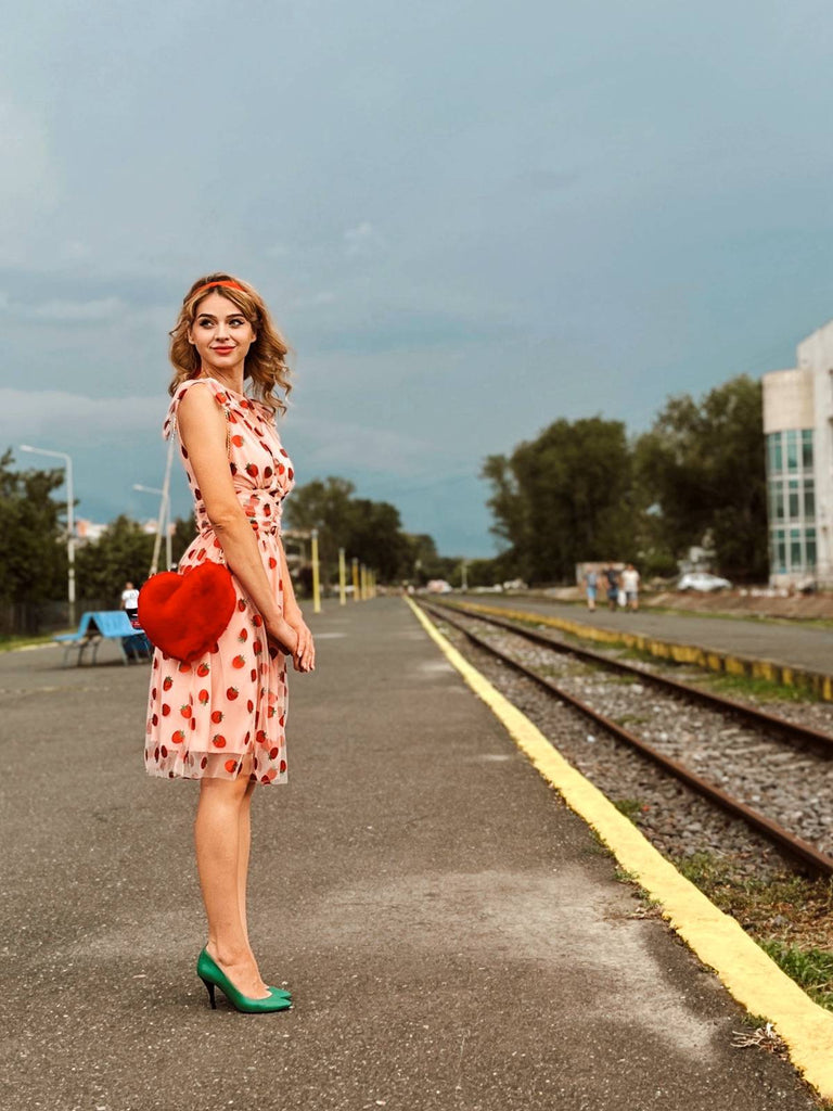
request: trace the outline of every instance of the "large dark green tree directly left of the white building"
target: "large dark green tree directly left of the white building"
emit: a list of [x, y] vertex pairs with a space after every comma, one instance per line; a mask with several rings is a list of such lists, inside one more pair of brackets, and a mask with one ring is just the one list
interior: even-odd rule
[[659, 556], [711, 539], [731, 579], [766, 578], [766, 474], [761, 383], [745, 374], [699, 402], [671, 398], [635, 447], [641, 498]]

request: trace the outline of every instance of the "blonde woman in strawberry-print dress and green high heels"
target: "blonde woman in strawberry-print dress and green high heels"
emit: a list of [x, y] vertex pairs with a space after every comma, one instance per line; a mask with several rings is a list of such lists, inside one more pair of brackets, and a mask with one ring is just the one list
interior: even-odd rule
[[144, 751], [151, 775], [200, 780], [194, 837], [208, 943], [197, 972], [212, 1007], [219, 987], [247, 1012], [291, 1004], [261, 979], [249, 944], [250, 807], [257, 783], [287, 779], [287, 655], [297, 671], [315, 665], [280, 539], [293, 471], [274, 427], [285, 404], [273, 391], [290, 390], [287, 351], [251, 286], [217, 273], [185, 296], [171, 332], [164, 423], [165, 438], [179, 434], [199, 530], [180, 572], [227, 563], [237, 604], [202, 658], [183, 663], [157, 649]]

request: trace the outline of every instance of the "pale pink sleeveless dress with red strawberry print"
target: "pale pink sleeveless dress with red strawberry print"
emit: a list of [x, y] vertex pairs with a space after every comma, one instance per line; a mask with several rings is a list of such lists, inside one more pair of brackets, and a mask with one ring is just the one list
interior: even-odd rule
[[[171, 402], [162, 428], [165, 439], [175, 433], [180, 401], [194, 388], [210, 390], [225, 413], [234, 490], [258, 539], [274, 597], [282, 604], [281, 502], [294, 484], [294, 474], [274, 414], [215, 379], [193, 379], [179, 388]], [[182, 444], [180, 452], [199, 530], [180, 560], [182, 573], [205, 560], [224, 563], [225, 557]], [[232, 582], [237, 607], [211, 651], [191, 663], [160, 649], [153, 653], [144, 747], [150, 775], [234, 779], [250, 754], [250, 779], [259, 783], [287, 780], [287, 658], [268, 643], [263, 619], [233, 574]]]

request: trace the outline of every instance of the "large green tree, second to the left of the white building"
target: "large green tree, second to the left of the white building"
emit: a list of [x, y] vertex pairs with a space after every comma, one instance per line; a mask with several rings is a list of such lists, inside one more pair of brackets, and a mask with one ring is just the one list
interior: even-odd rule
[[529, 582], [572, 581], [576, 562], [632, 559], [631, 450], [621, 421], [556, 420], [512, 454], [490, 456], [492, 531], [508, 571]]

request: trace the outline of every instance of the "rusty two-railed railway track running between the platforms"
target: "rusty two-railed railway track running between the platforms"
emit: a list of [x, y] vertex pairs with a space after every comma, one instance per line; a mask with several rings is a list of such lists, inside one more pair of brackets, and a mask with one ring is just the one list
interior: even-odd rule
[[[688, 763], [675, 758], [674, 754], [662, 751], [662, 745], [658, 747], [655, 743], [649, 743], [644, 738], [625, 729], [621, 722], [612, 720], [610, 713], [603, 713], [594, 705], [589, 704], [585, 698], [576, 694], [575, 689], [570, 689], [571, 684], [569, 681], [560, 678], [560, 681], [556, 682], [550, 675], [542, 673], [540, 664], [538, 667], [530, 667], [520, 660], [518, 657], [522, 654], [521, 652], [504, 651], [479, 635], [471, 628], [471, 623], [480, 622], [488, 627], [496, 628], [502, 633], [509, 637], [521, 638], [526, 644], [542, 648], [545, 652], [578, 659], [582, 663], [590, 664], [593, 668], [603, 668], [608, 672], [615, 672], [618, 675], [626, 677], [628, 680], [632, 680], [634, 683], [651, 684], [654, 691], [662, 692], [663, 697], [673, 698], [678, 702], [685, 700], [689, 703], [705, 708], [707, 713], [720, 715], [723, 722], [727, 717], [742, 722], [743, 728], [734, 730], [734, 733], [742, 734], [743, 729], [745, 729], [747, 735], [745, 738], [741, 735], [740, 740], [736, 737], [733, 738], [733, 759], [740, 759], [744, 762], [745, 753], [746, 762], [753, 765], [755, 771], [770, 769], [769, 771], [764, 771], [764, 775], [779, 774], [781, 771], [783, 774], [790, 774], [790, 764], [801, 759], [804, 761], [803, 770], [807, 774], [809, 781], [812, 782], [813, 774], [817, 774], [820, 779], [829, 778], [830, 760], [833, 759], [833, 737], [732, 699], [725, 699], [668, 677], [658, 675], [654, 672], [649, 672], [623, 661], [612, 660], [610, 657], [590, 651], [589, 649], [566, 644], [538, 630], [524, 628], [514, 621], [471, 611], [460, 604], [452, 605], [433, 602], [430, 605], [425, 603], [421, 604], [433, 617], [458, 629], [479, 649], [522, 673], [539, 688], [546, 690], [549, 694], [571, 705], [595, 724], [601, 725], [619, 741], [648, 758], [662, 769], [664, 773], [685, 783], [686, 787], [713, 805], [721, 808], [721, 810], [733, 818], [743, 821], [747, 827], [776, 845], [783, 853], [801, 862], [805, 869], [824, 877], [833, 875], [833, 857], [822, 851], [816, 844], [811, 843], [806, 838], [799, 837], [796, 832], [787, 830], [782, 823], [762, 813], [714, 782], [715, 778], [722, 778], [723, 780], [732, 778], [731, 774], [726, 774], [720, 770], [720, 749], [716, 749], [710, 755], [709, 771], [711, 778], [706, 779], [689, 767]], [[551, 670], [546, 665], [544, 665], [544, 669]], [[599, 701], [599, 698], [594, 698], [594, 701]], [[716, 728], [713, 723], [712, 732]], [[719, 732], [721, 735], [725, 735], [732, 731], [720, 729]], [[793, 750], [792, 754], [791, 748]], [[796, 752], [795, 750], [799, 751]], [[727, 748], [725, 752], [729, 751], [730, 749]], [[773, 772], [773, 768], [776, 768], [777, 771]], [[735, 775], [735, 778], [737, 777]]]

